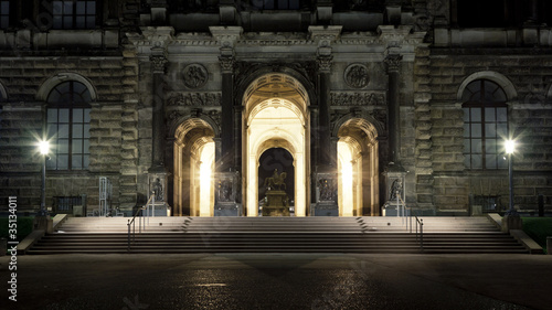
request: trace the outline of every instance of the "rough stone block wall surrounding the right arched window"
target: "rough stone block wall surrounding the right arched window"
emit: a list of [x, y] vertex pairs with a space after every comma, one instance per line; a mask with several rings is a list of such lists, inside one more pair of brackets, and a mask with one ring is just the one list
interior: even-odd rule
[[546, 209], [551, 209], [552, 159], [548, 154], [552, 151], [552, 110], [545, 92], [552, 82], [552, 58], [513, 50], [433, 50], [429, 58], [437, 211], [467, 213], [469, 195], [499, 196], [500, 206], [508, 206], [507, 170], [469, 171], [464, 167], [464, 113], [457, 94], [460, 84], [474, 75], [497, 82], [510, 95], [509, 130], [518, 139], [513, 157], [516, 207], [535, 210], [537, 196], [543, 194]]

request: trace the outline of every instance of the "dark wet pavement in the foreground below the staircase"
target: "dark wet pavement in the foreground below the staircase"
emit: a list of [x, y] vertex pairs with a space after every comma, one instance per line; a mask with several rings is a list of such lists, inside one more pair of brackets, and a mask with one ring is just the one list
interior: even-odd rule
[[1, 309], [552, 309], [544, 255], [0, 257]]

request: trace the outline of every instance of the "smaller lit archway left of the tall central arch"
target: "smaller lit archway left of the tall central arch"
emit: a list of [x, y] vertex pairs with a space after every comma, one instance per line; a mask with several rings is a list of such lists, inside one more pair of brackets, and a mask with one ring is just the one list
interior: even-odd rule
[[174, 133], [174, 215], [213, 216], [214, 131], [203, 119], [183, 121]]

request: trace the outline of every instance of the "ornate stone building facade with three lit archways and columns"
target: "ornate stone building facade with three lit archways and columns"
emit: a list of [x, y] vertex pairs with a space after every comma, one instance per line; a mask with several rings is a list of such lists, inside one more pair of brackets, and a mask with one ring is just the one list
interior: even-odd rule
[[53, 212], [97, 209], [106, 177], [127, 215], [155, 191], [172, 215], [257, 216], [275, 169], [297, 216], [389, 215], [397, 193], [500, 212], [506, 139], [516, 207], [552, 207], [548, 1], [0, 6], [0, 197], [21, 210], [41, 139]]

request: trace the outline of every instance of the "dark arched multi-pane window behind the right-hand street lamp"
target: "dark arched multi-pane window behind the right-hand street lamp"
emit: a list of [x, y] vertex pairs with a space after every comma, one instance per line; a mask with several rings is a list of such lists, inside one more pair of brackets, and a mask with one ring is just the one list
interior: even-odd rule
[[508, 137], [505, 90], [488, 79], [469, 83], [463, 93], [464, 163], [468, 169], [502, 169], [502, 141]]

